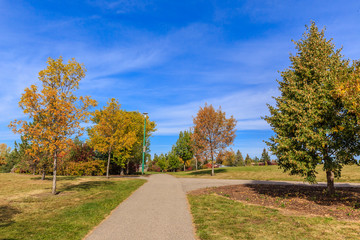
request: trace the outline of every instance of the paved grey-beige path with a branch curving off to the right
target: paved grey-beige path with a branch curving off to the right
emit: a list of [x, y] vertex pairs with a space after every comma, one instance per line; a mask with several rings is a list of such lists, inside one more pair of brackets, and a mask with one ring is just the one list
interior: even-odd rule
[[[237, 184], [305, 185], [302, 182], [175, 178], [168, 174], [151, 175], [146, 179], [147, 183], [121, 203], [85, 239], [193, 240], [196, 239], [195, 229], [186, 192]], [[326, 183], [313, 186], [319, 185], [326, 186]], [[337, 183], [336, 186], [360, 187], [360, 184]]]

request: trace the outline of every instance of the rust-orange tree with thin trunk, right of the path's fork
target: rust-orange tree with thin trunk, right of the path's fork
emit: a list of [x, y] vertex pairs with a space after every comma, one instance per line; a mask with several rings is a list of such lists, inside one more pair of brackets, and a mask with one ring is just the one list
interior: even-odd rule
[[[224, 150], [235, 139], [236, 120], [233, 116], [226, 118], [221, 107], [215, 111], [212, 105], [205, 106], [193, 118], [194, 129], [191, 135], [195, 153], [202, 158], [211, 159], [211, 176], [214, 176], [214, 161], [219, 152]], [[200, 153], [200, 151], [201, 153]]]

